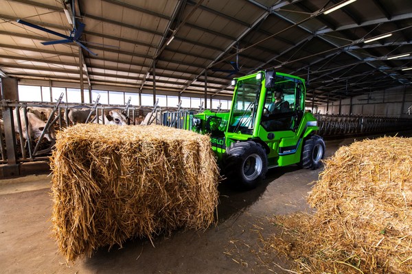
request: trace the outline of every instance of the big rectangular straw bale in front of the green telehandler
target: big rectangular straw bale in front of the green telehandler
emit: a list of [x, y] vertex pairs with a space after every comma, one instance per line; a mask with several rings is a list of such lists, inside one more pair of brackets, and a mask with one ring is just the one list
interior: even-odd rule
[[218, 167], [208, 136], [158, 125], [76, 125], [58, 134], [51, 166], [53, 232], [67, 260], [214, 223]]

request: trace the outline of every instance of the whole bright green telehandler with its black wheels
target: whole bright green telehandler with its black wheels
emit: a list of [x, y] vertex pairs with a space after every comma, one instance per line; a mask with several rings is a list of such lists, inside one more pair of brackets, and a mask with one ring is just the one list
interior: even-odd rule
[[229, 112], [195, 114], [192, 130], [209, 134], [222, 175], [248, 190], [268, 169], [298, 164], [318, 169], [325, 153], [311, 112], [305, 111], [304, 79], [259, 71], [233, 79]]

